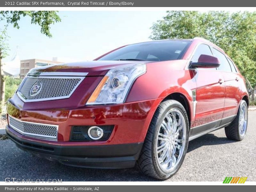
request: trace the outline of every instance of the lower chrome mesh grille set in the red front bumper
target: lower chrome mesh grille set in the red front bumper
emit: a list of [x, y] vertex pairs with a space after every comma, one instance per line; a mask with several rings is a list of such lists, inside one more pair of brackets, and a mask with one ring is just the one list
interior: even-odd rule
[[48, 124], [35, 124], [17, 120], [9, 116], [10, 126], [17, 132], [29, 137], [57, 140], [58, 126]]

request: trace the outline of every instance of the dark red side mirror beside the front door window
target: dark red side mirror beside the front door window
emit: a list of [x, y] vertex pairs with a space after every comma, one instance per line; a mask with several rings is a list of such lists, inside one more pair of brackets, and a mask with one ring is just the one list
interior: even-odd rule
[[217, 57], [210, 55], [200, 55], [198, 62], [191, 62], [189, 68], [217, 68], [220, 67], [220, 61]]

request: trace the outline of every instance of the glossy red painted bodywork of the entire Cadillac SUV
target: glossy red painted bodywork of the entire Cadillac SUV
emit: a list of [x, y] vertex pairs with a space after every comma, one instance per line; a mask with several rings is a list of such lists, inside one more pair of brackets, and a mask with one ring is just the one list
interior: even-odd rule
[[[41, 72], [87, 72], [88, 75], [68, 99], [24, 103], [16, 94], [10, 99], [9, 115], [24, 121], [58, 124], [58, 141], [30, 138], [11, 128], [8, 130], [26, 140], [61, 146], [139, 143], [145, 140], [148, 126], [158, 105], [173, 93], [179, 93], [186, 98], [191, 128], [234, 116], [242, 98], [248, 98], [244, 78], [239, 72], [188, 69], [194, 50], [202, 43], [224, 53], [216, 45], [195, 38], [181, 60], [146, 62], [147, 72], [133, 83], [125, 103], [116, 105], [85, 104], [109, 69], [145, 61], [95, 60], [38, 69]], [[193, 103], [192, 90], [196, 90], [196, 106]], [[72, 125], [115, 127], [107, 141], [71, 142], [69, 138]]]

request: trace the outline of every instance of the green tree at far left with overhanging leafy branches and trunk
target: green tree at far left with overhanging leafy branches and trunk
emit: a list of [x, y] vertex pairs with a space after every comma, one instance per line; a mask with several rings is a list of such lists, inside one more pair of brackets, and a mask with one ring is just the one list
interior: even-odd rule
[[0, 29], [0, 112], [5, 95], [5, 78], [2, 59], [8, 53], [7, 29], [9, 25], [12, 25], [14, 28], [20, 28], [19, 21], [21, 17], [29, 17], [31, 24], [39, 25], [41, 27], [41, 33], [48, 37], [52, 37], [50, 33], [51, 25], [61, 21], [56, 11], [0, 11], [0, 24], [4, 26]]

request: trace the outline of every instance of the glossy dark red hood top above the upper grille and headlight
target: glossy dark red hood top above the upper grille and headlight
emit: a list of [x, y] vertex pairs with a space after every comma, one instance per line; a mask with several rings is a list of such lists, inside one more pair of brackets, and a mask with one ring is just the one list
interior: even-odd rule
[[64, 63], [33, 68], [30, 72], [80, 72], [88, 73], [87, 76], [104, 76], [109, 69], [125, 67], [148, 61], [86, 61], [76, 63]]

